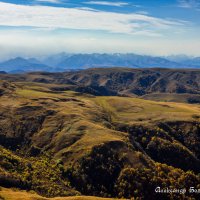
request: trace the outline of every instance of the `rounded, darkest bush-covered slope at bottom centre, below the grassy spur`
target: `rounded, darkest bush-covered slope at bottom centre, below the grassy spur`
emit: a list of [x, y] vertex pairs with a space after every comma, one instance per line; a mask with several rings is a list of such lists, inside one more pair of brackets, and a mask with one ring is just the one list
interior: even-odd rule
[[85, 195], [115, 196], [114, 184], [122, 169], [123, 160], [114, 149], [100, 145], [68, 168], [66, 175], [72, 185]]

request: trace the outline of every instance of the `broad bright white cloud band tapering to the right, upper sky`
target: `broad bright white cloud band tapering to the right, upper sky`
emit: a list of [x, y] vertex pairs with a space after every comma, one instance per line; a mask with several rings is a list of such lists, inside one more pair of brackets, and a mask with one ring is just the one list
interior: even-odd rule
[[[114, 13], [79, 8], [27, 6], [0, 2], [0, 25], [99, 30], [123, 34], [157, 36], [161, 31], [183, 25], [138, 13]], [[164, 32], [163, 31], [163, 32]]]

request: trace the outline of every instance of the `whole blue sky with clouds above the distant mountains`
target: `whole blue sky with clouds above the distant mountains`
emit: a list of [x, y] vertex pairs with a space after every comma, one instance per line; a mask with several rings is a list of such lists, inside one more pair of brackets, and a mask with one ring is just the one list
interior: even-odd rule
[[200, 0], [0, 1], [0, 59], [59, 52], [200, 56]]

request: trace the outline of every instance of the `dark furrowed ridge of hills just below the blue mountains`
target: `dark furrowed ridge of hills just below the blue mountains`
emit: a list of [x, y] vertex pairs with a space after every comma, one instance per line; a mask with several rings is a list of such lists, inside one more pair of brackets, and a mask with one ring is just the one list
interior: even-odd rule
[[200, 70], [192, 69], [96, 68], [65, 73], [2, 74], [0, 78], [60, 84], [54, 89], [97, 96], [139, 96], [163, 101], [200, 102]]

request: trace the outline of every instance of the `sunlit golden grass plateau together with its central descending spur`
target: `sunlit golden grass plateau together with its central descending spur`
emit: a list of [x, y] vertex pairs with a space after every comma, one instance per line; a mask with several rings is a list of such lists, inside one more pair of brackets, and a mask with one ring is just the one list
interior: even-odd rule
[[[109, 123], [145, 126], [154, 126], [155, 123], [161, 121], [200, 120], [200, 105], [197, 104], [156, 102], [116, 96], [88, 97], [73, 91], [55, 93], [49, 89], [50, 87], [48, 84], [28, 83], [26, 85], [26, 83], [20, 83], [20, 87], [15, 93], [16, 96], [1, 98], [0, 106], [44, 106], [42, 103], [45, 102], [45, 108], [55, 110], [58, 113], [57, 118], [47, 118], [38, 135], [42, 137], [52, 129], [56, 129], [57, 120], [63, 118], [66, 128], [57, 134], [54, 143], [63, 143], [66, 132], [70, 134], [71, 138], [76, 139], [72, 145], [56, 152], [58, 158], [69, 153], [73, 155], [71, 157], [79, 159], [95, 145], [109, 141], [126, 142], [126, 133], [107, 128], [105, 118]], [[66, 142], [68, 142], [67, 140]], [[70, 159], [68, 161], [71, 162]]]

